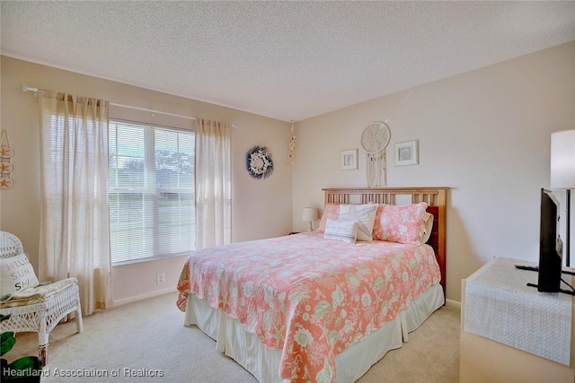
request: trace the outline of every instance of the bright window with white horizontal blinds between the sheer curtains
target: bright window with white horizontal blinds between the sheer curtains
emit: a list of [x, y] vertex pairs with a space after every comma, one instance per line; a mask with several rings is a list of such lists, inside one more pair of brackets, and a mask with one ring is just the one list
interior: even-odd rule
[[195, 248], [193, 131], [110, 122], [112, 264]]

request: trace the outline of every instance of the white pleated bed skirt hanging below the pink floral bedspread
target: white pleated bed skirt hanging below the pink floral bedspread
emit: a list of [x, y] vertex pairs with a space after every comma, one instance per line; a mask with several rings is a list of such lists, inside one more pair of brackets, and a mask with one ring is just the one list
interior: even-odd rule
[[[335, 358], [335, 381], [349, 383], [361, 378], [385, 353], [407, 342], [408, 333], [419, 327], [444, 301], [441, 285], [434, 284], [397, 318], [385, 322], [361, 342], [351, 344]], [[261, 344], [258, 337], [245, 331], [237, 320], [192, 294], [188, 297], [184, 326], [198, 326], [216, 340], [219, 352], [237, 361], [261, 383], [289, 381], [279, 378], [281, 350], [272, 350]]]

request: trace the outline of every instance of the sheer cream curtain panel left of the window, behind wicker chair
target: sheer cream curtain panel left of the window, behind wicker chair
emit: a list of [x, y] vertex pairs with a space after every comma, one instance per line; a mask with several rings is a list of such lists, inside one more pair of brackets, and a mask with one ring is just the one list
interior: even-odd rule
[[111, 306], [109, 102], [39, 92], [40, 280], [78, 279], [84, 315]]

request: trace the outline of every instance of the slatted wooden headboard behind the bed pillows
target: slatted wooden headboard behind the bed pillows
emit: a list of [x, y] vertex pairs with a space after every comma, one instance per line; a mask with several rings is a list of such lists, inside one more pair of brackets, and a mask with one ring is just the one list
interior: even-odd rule
[[446, 293], [447, 190], [449, 187], [354, 187], [324, 188], [325, 204], [405, 205], [426, 202], [433, 214], [433, 231], [428, 244], [435, 250], [441, 270], [441, 286]]

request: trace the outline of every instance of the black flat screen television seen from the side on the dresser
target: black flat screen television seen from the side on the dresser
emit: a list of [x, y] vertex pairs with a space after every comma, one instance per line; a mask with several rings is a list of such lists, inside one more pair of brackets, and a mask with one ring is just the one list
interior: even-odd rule
[[541, 189], [541, 223], [539, 230], [539, 292], [560, 292], [562, 274], [562, 239], [559, 228], [559, 201], [551, 191]]

